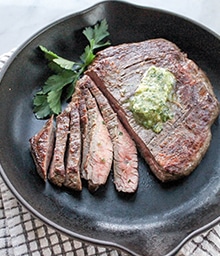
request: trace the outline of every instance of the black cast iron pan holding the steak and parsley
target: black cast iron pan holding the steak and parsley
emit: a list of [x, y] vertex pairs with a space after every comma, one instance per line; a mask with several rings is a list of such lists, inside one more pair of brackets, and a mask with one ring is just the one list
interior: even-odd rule
[[35, 216], [64, 234], [123, 249], [133, 255], [172, 255], [193, 235], [220, 218], [220, 125], [201, 164], [189, 177], [160, 183], [139, 158], [137, 193], [117, 193], [109, 178], [95, 194], [46, 184], [29, 151], [29, 138], [43, 125], [32, 111], [32, 97], [48, 76], [38, 49], [77, 60], [86, 39], [82, 29], [106, 18], [112, 45], [163, 37], [176, 43], [208, 75], [220, 98], [220, 40], [207, 29], [164, 11], [106, 1], [61, 19], [25, 42], [1, 74], [1, 174], [17, 199]]

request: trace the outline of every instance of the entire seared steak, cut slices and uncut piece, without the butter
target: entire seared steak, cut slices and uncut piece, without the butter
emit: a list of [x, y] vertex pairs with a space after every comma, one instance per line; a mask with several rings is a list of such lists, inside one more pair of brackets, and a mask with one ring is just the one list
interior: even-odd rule
[[[159, 134], [138, 124], [129, 107], [130, 97], [152, 65], [168, 69], [177, 81], [171, 104], [174, 116]], [[205, 155], [219, 112], [205, 73], [175, 44], [164, 39], [122, 44], [97, 54], [78, 81], [72, 102], [57, 116], [56, 133], [52, 116], [30, 139], [31, 153], [44, 180], [51, 162], [52, 183], [80, 191], [82, 177], [94, 191], [106, 183], [114, 151], [115, 186], [134, 192], [135, 144], [158, 179], [179, 179]]]

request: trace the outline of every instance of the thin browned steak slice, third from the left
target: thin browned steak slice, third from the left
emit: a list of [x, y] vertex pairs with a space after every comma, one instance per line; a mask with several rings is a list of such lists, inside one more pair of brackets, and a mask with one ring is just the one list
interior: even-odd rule
[[82, 182], [80, 177], [81, 165], [81, 130], [79, 115], [80, 91], [75, 90], [70, 111], [70, 135], [68, 140], [66, 177], [64, 185], [71, 189], [81, 191]]

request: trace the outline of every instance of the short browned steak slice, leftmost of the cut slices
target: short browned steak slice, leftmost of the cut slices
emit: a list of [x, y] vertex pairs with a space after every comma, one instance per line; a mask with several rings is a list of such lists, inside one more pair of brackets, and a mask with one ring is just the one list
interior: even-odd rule
[[38, 174], [46, 181], [47, 171], [51, 162], [54, 147], [53, 116], [45, 123], [43, 128], [30, 138], [31, 154]]

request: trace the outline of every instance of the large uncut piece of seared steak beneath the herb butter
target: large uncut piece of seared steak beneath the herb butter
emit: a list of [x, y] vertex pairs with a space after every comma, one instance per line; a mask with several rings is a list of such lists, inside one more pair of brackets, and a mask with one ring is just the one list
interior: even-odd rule
[[[129, 105], [152, 65], [166, 68], [176, 78], [174, 116], [159, 134], [138, 124]], [[161, 181], [186, 176], [200, 163], [210, 144], [219, 102], [205, 73], [175, 44], [159, 38], [108, 47], [97, 53], [86, 74], [109, 100]]]

